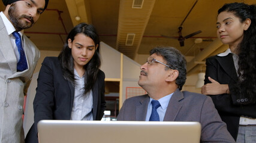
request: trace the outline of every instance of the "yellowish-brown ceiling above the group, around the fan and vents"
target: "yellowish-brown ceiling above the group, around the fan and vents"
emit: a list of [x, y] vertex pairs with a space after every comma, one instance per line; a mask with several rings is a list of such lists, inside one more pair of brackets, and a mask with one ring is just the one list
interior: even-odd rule
[[[144, 0], [142, 8], [134, 9], [132, 2], [50, 0], [37, 24], [25, 30], [25, 33], [39, 49], [59, 51], [73, 26], [86, 22], [94, 24], [101, 41], [133, 60], [137, 60], [141, 54], [149, 54], [154, 46], [173, 46], [186, 57], [192, 57], [192, 61], [188, 62], [188, 74], [192, 74], [201, 70], [206, 57], [227, 48], [216, 39], [218, 9], [230, 2], [256, 4], [256, 0]], [[2, 3], [0, 10], [4, 10]], [[76, 16], [81, 20], [75, 20]], [[177, 39], [161, 36], [177, 38], [180, 24], [183, 27], [182, 36], [198, 30], [202, 32], [185, 39], [185, 46], [182, 47]], [[125, 46], [127, 33], [135, 33], [132, 46]], [[194, 43], [196, 38], [202, 38], [203, 42]], [[137, 62], [141, 64], [144, 60]]]

